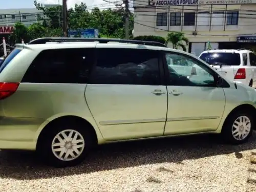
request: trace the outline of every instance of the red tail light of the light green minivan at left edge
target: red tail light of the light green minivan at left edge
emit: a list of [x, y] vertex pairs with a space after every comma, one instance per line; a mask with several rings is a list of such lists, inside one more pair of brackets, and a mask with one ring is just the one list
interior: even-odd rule
[[19, 82], [0, 82], [0, 100], [10, 97], [18, 89]]

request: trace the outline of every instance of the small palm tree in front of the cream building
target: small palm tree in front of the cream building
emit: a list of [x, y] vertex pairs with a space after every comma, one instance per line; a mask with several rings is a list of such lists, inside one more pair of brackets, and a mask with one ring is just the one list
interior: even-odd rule
[[171, 42], [173, 44], [173, 48], [174, 49], [178, 49], [179, 47], [181, 47], [183, 49], [183, 51], [186, 51], [186, 46], [183, 44], [183, 41], [186, 43], [186, 46], [188, 46], [188, 38], [186, 38], [184, 36], [183, 33], [168, 33], [167, 37], [166, 37], [166, 45], [168, 44], [168, 42]]

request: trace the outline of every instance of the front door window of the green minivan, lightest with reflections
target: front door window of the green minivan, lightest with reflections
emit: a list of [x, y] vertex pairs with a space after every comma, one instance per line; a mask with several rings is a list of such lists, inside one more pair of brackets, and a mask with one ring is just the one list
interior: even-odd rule
[[[165, 57], [169, 72], [167, 86], [216, 87], [214, 72], [200, 61], [176, 53], [165, 53]], [[180, 60], [179, 63], [186, 62], [189, 65], [168, 65], [167, 59]]]

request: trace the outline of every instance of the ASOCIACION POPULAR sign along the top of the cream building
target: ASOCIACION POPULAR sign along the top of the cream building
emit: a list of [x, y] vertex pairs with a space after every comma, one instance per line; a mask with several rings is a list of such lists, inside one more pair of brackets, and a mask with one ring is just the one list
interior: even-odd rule
[[[135, 1], [136, 2], [136, 1]], [[256, 0], [148, 0], [149, 6], [182, 6], [182, 5], [230, 5], [230, 4], [254, 4]], [[136, 3], [135, 3], [136, 4]]]

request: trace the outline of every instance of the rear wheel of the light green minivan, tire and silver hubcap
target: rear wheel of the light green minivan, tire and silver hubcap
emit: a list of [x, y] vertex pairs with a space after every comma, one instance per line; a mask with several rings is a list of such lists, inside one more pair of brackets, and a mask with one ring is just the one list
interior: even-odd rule
[[[40, 136], [38, 140], [39, 143], [36, 149], [36, 153], [40, 160], [44, 161], [44, 163], [50, 166], [75, 166], [84, 160], [89, 150], [91, 149], [91, 146], [93, 146], [93, 140], [90, 136], [90, 132], [86, 129], [86, 127], [76, 124], [75, 122], [59, 124], [53, 123], [53, 125], [48, 128], [50, 129], [47, 129], [47, 131], [42, 136]], [[77, 135], [76, 139], [75, 135]], [[68, 149], [68, 151], [65, 152], [64, 149]], [[67, 155], [67, 153], [69, 155]], [[60, 155], [62, 155], [61, 159], [58, 158]], [[73, 155], [73, 157], [71, 155]]]

